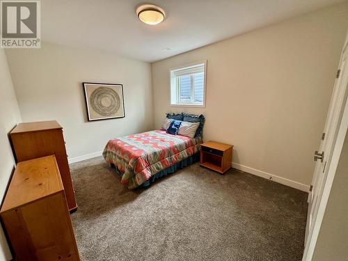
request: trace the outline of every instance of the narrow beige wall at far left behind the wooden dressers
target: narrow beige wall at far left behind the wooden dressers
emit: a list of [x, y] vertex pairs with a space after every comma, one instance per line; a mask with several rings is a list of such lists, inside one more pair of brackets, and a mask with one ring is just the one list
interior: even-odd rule
[[[21, 122], [17, 98], [13, 83], [8, 70], [5, 52], [0, 49], [0, 200], [3, 200], [4, 193], [13, 172], [15, 160], [8, 140], [8, 133], [18, 122]], [[10, 260], [11, 255], [8, 245], [0, 228], [0, 261]]]

